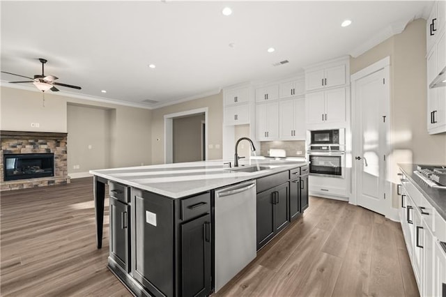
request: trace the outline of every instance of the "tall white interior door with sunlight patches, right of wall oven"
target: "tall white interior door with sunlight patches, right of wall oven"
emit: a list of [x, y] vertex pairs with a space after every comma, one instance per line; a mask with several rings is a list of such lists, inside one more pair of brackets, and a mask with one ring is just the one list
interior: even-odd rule
[[[385, 201], [385, 152], [390, 93], [388, 68], [355, 80], [354, 143], [357, 204], [376, 213], [387, 214]], [[387, 82], [387, 84], [385, 84]], [[387, 195], [390, 199], [390, 194]]]

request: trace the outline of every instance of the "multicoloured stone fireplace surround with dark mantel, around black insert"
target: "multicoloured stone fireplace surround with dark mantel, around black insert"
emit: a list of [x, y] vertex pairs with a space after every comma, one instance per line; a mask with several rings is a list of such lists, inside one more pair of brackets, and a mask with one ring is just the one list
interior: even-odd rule
[[[70, 183], [67, 165], [67, 135], [59, 132], [0, 131], [1, 191]], [[3, 155], [9, 153], [54, 153], [54, 176], [4, 181]]]

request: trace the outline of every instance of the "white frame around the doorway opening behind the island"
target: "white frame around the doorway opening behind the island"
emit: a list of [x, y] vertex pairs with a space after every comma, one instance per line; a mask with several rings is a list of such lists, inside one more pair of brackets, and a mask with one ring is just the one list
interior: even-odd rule
[[[174, 114], [164, 114], [164, 164], [174, 162], [174, 118], [179, 116], [193, 116], [194, 114], [203, 114], [204, 122], [208, 122], [208, 107], [190, 109], [184, 112], [175, 112]], [[204, 126], [205, 130], [205, 157], [208, 160], [208, 125]]]

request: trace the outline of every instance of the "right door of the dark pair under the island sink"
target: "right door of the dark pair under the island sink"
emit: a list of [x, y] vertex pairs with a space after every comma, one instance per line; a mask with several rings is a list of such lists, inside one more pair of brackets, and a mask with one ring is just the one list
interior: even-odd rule
[[282, 231], [289, 224], [289, 183], [283, 183], [275, 188], [275, 232]]

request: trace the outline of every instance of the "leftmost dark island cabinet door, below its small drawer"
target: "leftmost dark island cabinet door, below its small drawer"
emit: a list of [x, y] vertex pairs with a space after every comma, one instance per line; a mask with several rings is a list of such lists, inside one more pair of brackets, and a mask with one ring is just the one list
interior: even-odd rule
[[110, 257], [129, 272], [129, 221], [130, 208], [114, 198], [110, 198]]

